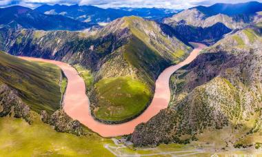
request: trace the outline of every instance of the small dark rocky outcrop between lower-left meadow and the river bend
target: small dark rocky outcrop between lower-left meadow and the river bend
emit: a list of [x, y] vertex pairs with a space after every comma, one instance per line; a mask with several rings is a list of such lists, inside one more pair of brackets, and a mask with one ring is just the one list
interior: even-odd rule
[[63, 109], [59, 109], [51, 116], [46, 111], [41, 111], [41, 120], [44, 123], [54, 126], [57, 132], [67, 132], [77, 136], [85, 135], [81, 123], [72, 120]]

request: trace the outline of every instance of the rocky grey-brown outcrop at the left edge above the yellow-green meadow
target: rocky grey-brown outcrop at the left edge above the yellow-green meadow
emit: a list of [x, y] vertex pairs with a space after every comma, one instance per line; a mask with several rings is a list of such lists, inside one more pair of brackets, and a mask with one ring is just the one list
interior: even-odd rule
[[32, 123], [30, 108], [19, 98], [16, 90], [0, 82], [0, 116], [14, 116]]

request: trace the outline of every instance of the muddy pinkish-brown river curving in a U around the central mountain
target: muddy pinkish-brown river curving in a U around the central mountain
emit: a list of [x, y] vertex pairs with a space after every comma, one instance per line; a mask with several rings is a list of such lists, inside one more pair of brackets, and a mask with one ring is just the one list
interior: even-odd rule
[[183, 67], [183, 65], [187, 65], [193, 61], [199, 52], [205, 48], [205, 45], [201, 43], [194, 43], [194, 45], [196, 45], [196, 47], [190, 53], [190, 56], [185, 59], [185, 61], [179, 63], [178, 65], [172, 65], [171, 67], [168, 67], [159, 75], [159, 78], [156, 82], [154, 98], [152, 99], [150, 106], [145, 109], [145, 112], [143, 112], [143, 114], [137, 118], [134, 118], [132, 121], [128, 121], [119, 125], [106, 125], [99, 123], [95, 121], [94, 118], [92, 118], [89, 110], [88, 96], [85, 94], [85, 83], [74, 67], [71, 67], [67, 63], [60, 61], [36, 59], [24, 56], [20, 56], [20, 58], [26, 59], [28, 61], [42, 61], [58, 65], [68, 78], [68, 86], [66, 88], [66, 94], [64, 95], [63, 100], [63, 109], [65, 112], [71, 118], [80, 121], [83, 125], [89, 129], [92, 129], [93, 132], [97, 132], [103, 137], [112, 137], [131, 134], [134, 132], [134, 127], [139, 125], [139, 123], [145, 123], [149, 121], [150, 118], [158, 114], [161, 109], [168, 107], [168, 103], [170, 101], [170, 76], [180, 67]]

